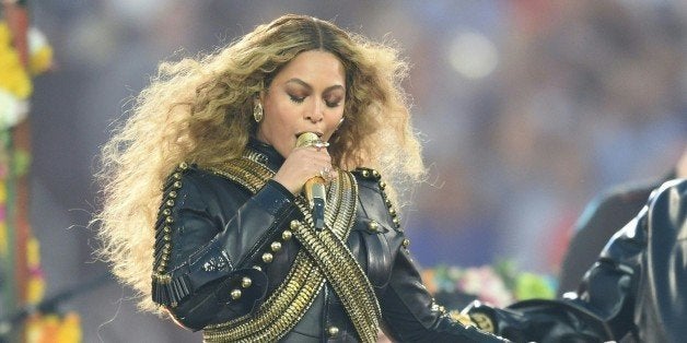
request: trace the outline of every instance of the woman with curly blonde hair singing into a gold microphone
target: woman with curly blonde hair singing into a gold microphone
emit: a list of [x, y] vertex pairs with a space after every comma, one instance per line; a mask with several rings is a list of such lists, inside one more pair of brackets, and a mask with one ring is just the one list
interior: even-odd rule
[[162, 64], [103, 151], [115, 274], [208, 342], [501, 341], [434, 304], [409, 256], [396, 190], [424, 169], [405, 74], [393, 48], [299, 15]]

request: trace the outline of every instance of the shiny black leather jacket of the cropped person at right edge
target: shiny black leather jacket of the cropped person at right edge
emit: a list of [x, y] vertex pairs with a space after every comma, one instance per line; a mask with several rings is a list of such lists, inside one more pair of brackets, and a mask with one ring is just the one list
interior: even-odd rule
[[505, 309], [474, 304], [466, 312], [515, 342], [685, 342], [687, 180], [652, 193], [608, 241], [573, 297]]

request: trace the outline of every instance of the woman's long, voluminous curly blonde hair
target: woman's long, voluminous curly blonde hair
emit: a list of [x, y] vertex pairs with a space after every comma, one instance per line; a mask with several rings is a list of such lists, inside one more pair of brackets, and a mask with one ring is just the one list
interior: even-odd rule
[[141, 309], [156, 311], [150, 297], [154, 221], [167, 175], [182, 162], [213, 167], [241, 156], [256, 130], [256, 96], [296, 55], [316, 49], [337, 56], [346, 70], [346, 120], [329, 141], [334, 165], [375, 168], [397, 191], [423, 177], [400, 87], [408, 66], [389, 45], [289, 14], [213, 54], [163, 62], [103, 146], [96, 175], [97, 253], [137, 291]]

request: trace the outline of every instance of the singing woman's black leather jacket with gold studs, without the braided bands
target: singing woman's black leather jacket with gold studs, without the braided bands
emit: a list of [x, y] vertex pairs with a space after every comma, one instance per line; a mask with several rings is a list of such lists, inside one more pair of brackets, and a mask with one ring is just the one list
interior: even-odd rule
[[[256, 158], [277, 170], [271, 146], [251, 140]], [[358, 210], [346, 245], [374, 288], [385, 333], [398, 342], [500, 342], [449, 317], [421, 283], [379, 174], [353, 173]], [[383, 185], [383, 184], [382, 184]], [[184, 166], [164, 191], [158, 221], [153, 299], [193, 330], [252, 316], [283, 282], [302, 249], [289, 223], [302, 220], [293, 196], [269, 180], [256, 193], [222, 176]], [[246, 279], [247, 277], [247, 279]], [[238, 292], [237, 292], [238, 291]], [[357, 342], [329, 283], [281, 341]]]

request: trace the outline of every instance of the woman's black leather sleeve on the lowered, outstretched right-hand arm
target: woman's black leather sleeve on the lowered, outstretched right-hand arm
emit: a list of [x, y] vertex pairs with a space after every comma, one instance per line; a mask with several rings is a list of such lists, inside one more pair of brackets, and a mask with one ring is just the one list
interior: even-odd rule
[[[409, 240], [405, 237], [397, 213], [385, 193], [386, 184], [381, 180], [377, 172], [360, 172], [362, 212], [375, 223], [373, 232], [384, 232], [385, 243], [388, 243], [386, 252], [379, 247], [365, 247], [368, 253], [376, 251], [370, 256], [376, 261], [368, 261], [365, 265], [368, 277], [379, 288], [377, 299], [386, 327], [384, 332], [394, 342], [508, 342], [474, 326], [462, 324], [434, 303], [408, 251]], [[377, 225], [388, 228], [381, 229]], [[388, 262], [382, 259], [385, 255], [389, 256]], [[383, 270], [391, 272], [386, 274]], [[375, 274], [388, 275], [388, 281], [385, 277], [375, 277]]]

